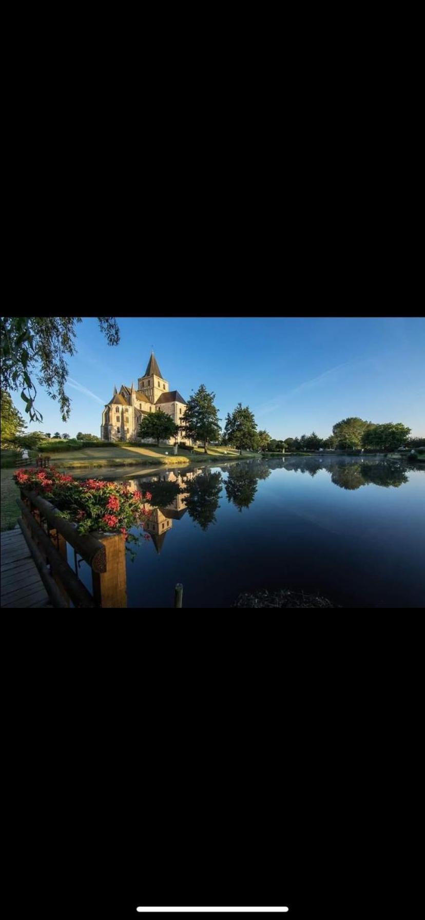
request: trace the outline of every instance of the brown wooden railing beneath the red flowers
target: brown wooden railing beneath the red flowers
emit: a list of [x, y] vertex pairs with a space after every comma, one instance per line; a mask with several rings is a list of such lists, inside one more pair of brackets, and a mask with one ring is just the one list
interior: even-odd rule
[[[17, 523], [55, 607], [126, 607], [125, 543], [120, 534], [76, 532], [76, 525], [56, 512], [50, 501], [20, 487]], [[67, 543], [91, 569], [91, 592], [67, 561]]]

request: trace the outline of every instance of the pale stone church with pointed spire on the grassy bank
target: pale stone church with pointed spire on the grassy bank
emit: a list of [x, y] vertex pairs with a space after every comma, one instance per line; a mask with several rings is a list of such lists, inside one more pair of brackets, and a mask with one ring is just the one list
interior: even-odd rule
[[[121, 385], [118, 393], [114, 387], [114, 394], [102, 412], [100, 437], [103, 441], [135, 441], [140, 422], [148, 412], [162, 409], [171, 416], [177, 424], [184, 424], [186, 412], [186, 399], [178, 390], [170, 390], [168, 381], [163, 377], [158, 367], [158, 362], [152, 352], [143, 377], [137, 381], [137, 389]], [[152, 438], [145, 438], [146, 442], [155, 443]], [[178, 431], [177, 438], [170, 438], [167, 443], [186, 440], [184, 431]]]

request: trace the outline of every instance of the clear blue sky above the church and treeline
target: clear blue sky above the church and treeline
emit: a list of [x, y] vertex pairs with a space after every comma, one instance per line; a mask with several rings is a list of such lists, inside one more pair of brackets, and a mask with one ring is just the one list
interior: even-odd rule
[[[152, 346], [170, 389], [188, 399], [205, 384], [224, 425], [242, 402], [258, 428], [286, 438], [316, 431], [327, 437], [335, 422], [360, 416], [402, 421], [425, 434], [425, 319], [420, 317], [120, 317], [121, 342], [109, 347], [98, 321], [76, 326], [77, 354], [69, 359], [71, 417], [38, 387], [43, 415], [29, 431], [100, 435], [104, 404], [113, 387], [137, 385]], [[12, 394], [25, 416], [25, 405]], [[27, 417], [28, 418], [28, 417]]]

